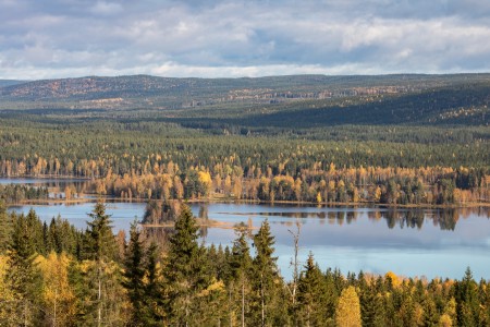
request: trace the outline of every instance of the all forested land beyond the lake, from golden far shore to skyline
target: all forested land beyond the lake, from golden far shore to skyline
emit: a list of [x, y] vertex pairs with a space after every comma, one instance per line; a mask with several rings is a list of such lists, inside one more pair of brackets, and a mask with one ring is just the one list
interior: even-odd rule
[[[89, 178], [93, 192], [123, 198], [482, 204], [489, 83], [486, 74], [22, 83], [0, 88], [9, 98], [0, 174]], [[171, 93], [176, 101], [255, 95], [172, 108], [143, 98], [174, 87], [185, 89]], [[284, 100], [264, 102], [265, 88]], [[324, 88], [332, 93], [321, 96]], [[130, 90], [138, 99], [132, 109], [70, 108], [73, 97]], [[65, 107], [37, 107], [48, 98]]]

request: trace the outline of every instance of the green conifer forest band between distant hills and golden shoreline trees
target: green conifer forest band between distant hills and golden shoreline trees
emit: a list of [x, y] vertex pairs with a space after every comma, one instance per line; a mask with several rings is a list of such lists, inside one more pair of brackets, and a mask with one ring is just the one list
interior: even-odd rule
[[218, 164], [265, 171], [277, 170], [289, 158], [285, 172], [296, 177], [318, 161], [348, 168], [488, 168], [490, 153], [485, 126], [291, 125], [281, 131], [268, 126], [247, 136], [247, 131], [223, 135], [232, 131], [220, 128], [220, 135], [213, 135], [151, 119], [101, 116], [85, 122], [64, 114], [48, 121], [35, 114], [2, 119], [0, 173], [93, 178], [105, 177], [109, 169], [120, 175], [145, 173], [170, 161], [183, 171]]

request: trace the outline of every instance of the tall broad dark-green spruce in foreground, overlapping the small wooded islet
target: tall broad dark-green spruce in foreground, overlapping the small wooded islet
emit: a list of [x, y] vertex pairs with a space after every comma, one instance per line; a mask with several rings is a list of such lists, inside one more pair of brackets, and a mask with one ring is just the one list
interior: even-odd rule
[[170, 238], [163, 271], [167, 282], [166, 303], [171, 325], [192, 324], [196, 296], [209, 284], [205, 271], [205, 252], [197, 243], [197, 230], [191, 208], [183, 205], [175, 221], [175, 233]]

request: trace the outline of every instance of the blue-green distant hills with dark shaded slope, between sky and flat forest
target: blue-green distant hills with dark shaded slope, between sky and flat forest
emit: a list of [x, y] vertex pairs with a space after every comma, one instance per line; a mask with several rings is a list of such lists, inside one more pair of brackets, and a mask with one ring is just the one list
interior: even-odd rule
[[489, 102], [490, 74], [0, 81], [2, 110], [126, 110], [124, 117], [199, 129], [488, 125]]

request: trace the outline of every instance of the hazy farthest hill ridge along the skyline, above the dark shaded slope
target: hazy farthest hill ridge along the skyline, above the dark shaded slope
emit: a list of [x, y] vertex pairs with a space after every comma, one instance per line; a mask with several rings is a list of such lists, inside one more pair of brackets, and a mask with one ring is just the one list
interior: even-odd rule
[[[326, 76], [257, 78], [170, 78], [148, 75], [0, 82], [0, 98], [10, 101], [167, 99], [223, 101], [248, 98], [324, 98], [359, 93], [404, 93], [462, 83], [489, 82], [490, 74]], [[371, 89], [367, 89], [371, 88]], [[102, 106], [103, 107], [103, 106]]]

